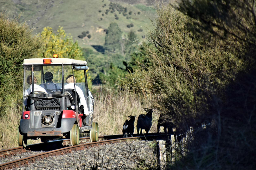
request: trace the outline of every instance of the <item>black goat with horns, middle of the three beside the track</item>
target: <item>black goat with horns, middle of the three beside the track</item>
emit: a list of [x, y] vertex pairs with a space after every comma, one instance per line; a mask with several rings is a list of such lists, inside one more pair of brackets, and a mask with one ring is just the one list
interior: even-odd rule
[[138, 123], [137, 123], [137, 133], [142, 133], [142, 129], [145, 129], [146, 133], [150, 130], [152, 126], [152, 109], [144, 109], [147, 114], [141, 114], [138, 117]]

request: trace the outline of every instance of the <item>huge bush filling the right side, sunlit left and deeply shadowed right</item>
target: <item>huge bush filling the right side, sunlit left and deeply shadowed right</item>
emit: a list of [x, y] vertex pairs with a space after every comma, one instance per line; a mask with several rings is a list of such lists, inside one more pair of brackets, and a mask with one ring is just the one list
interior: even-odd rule
[[143, 43], [151, 63], [144, 77], [153, 106], [178, 131], [211, 127], [195, 131], [172, 169], [255, 169], [254, 2], [183, 0], [177, 9], [158, 11]]

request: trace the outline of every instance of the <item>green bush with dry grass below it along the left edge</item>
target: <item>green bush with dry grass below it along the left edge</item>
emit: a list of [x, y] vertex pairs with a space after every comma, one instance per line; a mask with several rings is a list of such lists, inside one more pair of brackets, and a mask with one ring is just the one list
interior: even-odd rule
[[22, 91], [23, 60], [35, 58], [41, 41], [19, 18], [7, 18], [0, 12], [0, 146], [11, 148], [17, 144]]

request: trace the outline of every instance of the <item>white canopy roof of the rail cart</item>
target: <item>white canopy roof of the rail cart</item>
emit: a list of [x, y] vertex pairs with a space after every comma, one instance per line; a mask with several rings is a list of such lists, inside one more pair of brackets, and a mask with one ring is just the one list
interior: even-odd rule
[[45, 65], [44, 60], [47, 59], [48, 61], [50, 60], [51, 63], [47, 64], [72, 64], [72, 65], [87, 65], [86, 61], [82, 60], [74, 60], [71, 58], [29, 58], [29, 59], [24, 59], [23, 65]]

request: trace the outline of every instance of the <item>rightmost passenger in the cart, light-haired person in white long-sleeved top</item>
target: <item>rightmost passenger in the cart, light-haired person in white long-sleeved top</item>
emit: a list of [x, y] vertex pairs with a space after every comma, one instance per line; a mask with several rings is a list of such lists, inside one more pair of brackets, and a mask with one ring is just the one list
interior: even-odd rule
[[[74, 81], [76, 83], [76, 79], [75, 79], [75, 77], [73, 75], [67, 76], [66, 82], [68, 84], [66, 84], [64, 86], [64, 88], [65, 89], [75, 89]], [[84, 97], [84, 93], [80, 89], [80, 87], [78, 87], [77, 85], [76, 85], [76, 92], [77, 92], [77, 94], [79, 96], [79, 99], [80, 99], [79, 107], [83, 105], [84, 106], [84, 114], [85, 114], [85, 116], [88, 116], [89, 115], [89, 111], [88, 111], [88, 108], [87, 108], [87, 103], [86, 103], [86, 100], [85, 100], [85, 97]]]

